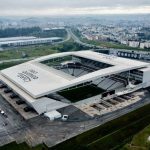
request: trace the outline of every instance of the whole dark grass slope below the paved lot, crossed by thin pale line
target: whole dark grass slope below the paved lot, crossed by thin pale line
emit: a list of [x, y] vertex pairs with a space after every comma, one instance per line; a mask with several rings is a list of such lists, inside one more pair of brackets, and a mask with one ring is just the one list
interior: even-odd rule
[[150, 105], [60, 143], [51, 150], [109, 150], [119, 147], [128, 138], [150, 123]]

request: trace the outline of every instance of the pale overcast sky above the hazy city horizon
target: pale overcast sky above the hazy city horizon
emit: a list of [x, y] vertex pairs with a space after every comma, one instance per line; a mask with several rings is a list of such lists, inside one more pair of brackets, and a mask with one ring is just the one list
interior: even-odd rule
[[150, 13], [150, 0], [0, 0], [1, 16]]

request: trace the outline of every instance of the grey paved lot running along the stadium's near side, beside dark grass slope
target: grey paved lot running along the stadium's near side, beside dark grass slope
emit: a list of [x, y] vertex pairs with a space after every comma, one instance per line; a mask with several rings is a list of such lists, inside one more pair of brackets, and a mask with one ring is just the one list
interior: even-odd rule
[[[127, 99], [127, 96], [130, 96], [131, 99]], [[68, 106], [65, 110], [61, 110], [62, 114], [68, 114], [74, 120], [68, 122], [54, 121], [51, 122], [42, 116], [37, 116], [29, 120], [23, 119], [23, 117], [5, 100], [0, 96], [0, 109], [5, 112], [8, 116], [4, 117], [0, 114], [0, 145], [10, 143], [12, 141], [17, 141], [17, 143], [27, 142], [29, 145], [37, 145], [40, 143], [46, 143], [48, 146], [55, 145], [59, 142], [62, 142], [72, 136], [78, 135], [85, 130], [94, 128], [104, 122], [107, 122], [111, 119], [115, 119], [118, 116], [126, 114], [128, 111], [137, 109], [141, 107], [144, 103], [149, 103], [150, 93], [145, 91], [134, 92], [131, 95], [127, 95], [126, 98], [109, 99], [100, 101], [87, 107], [86, 111], [93, 116], [97, 114], [100, 119], [89, 119], [87, 118], [83, 121], [84, 111], [78, 111], [74, 107]], [[142, 99], [144, 98], [142, 103]], [[141, 103], [135, 103], [141, 101]], [[131, 105], [129, 103], [134, 102], [135, 105], [130, 109]], [[133, 104], [134, 104], [133, 103]], [[119, 107], [120, 106], [120, 107]], [[127, 108], [123, 106], [129, 106]], [[118, 109], [118, 111], [115, 108]], [[121, 109], [122, 108], [122, 109]], [[80, 122], [80, 119], [82, 120]], [[5, 124], [6, 123], [6, 124]], [[38, 137], [38, 138], [37, 138]]]

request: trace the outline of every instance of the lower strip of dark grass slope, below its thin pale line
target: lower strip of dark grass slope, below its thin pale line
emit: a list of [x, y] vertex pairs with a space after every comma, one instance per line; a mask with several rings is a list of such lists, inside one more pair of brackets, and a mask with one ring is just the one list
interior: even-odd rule
[[[98, 139], [88, 145], [89, 150], [97, 150], [102, 149], [105, 147], [105, 149], [111, 149], [113, 147], [118, 147], [122, 141], [125, 139], [128, 139], [129, 137], [133, 136], [135, 133], [137, 133], [139, 130], [143, 129], [146, 125], [150, 123], [150, 115], [146, 116], [144, 118], [141, 118], [133, 123], [130, 123], [129, 125], [104, 136], [101, 139]], [[118, 136], [119, 135], [119, 136]], [[149, 147], [150, 148], [150, 147]]]

